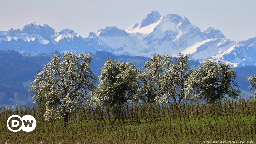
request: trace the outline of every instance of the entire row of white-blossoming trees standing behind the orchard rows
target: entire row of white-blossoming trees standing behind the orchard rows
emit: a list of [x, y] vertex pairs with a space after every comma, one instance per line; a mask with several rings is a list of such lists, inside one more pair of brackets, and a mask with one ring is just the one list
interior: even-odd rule
[[[92, 58], [86, 53], [66, 52], [62, 57], [56, 54], [37, 73], [30, 92], [34, 102], [45, 108], [45, 119], [64, 118], [66, 124], [69, 114], [88, 102], [96, 107], [120, 105], [128, 100], [179, 105], [183, 99], [213, 101], [240, 94], [236, 72], [230, 64], [206, 60], [193, 70], [187, 55], [179, 53], [175, 58], [157, 54], [138, 69], [133, 63], [108, 58], [95, 86]], [[256, 76], [249, 81], [250, 90], [254, 90]]]

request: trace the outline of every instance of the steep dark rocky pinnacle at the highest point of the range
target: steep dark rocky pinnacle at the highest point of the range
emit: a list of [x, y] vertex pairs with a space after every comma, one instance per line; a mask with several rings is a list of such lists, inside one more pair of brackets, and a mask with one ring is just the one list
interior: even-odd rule
[[151, 11], [147, 16], [141, 21], [141, 25], [139, 28], [148, 26], [159, 21], [161, 18], [160, 14], [157, 11]]

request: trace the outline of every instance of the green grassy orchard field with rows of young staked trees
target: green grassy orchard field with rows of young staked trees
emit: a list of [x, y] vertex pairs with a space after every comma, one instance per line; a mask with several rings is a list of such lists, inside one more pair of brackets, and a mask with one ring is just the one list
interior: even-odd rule
[[[126, 104], [114, 108], [85, 108], [62, 120], [47, 120], [43, 111], [25, 107], [0, 112], [0, 142], [4, 143], [203, 143], [254, 141], [256, 100], [182, 103], [179, 106]], [[10, 115], [33, 115], [34, 131], [11, 132]]]

